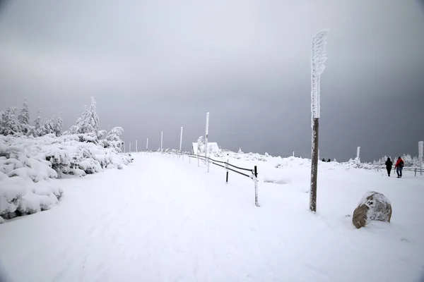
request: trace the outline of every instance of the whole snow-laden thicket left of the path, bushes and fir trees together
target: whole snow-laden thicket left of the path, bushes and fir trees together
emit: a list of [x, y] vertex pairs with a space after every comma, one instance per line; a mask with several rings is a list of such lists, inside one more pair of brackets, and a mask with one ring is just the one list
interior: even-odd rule
[[122, 169], [132, 161], [121, 150], [122, 127], [99, 130], [94, 98], [65, 132], [61, 114], [43, 121], [40, 113], [33, 125], [27, 102], [0, 113], [0, 222], [57, 204], [62, 190], [52, 178]]

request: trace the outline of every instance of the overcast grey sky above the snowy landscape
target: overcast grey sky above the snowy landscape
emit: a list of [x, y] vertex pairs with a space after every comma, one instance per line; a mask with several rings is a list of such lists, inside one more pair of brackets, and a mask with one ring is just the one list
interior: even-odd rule
[[[418, 154], [423, 1], [14, 0], [0, 6], [0, 105], [63, 111], [90, 96], [126, 142], [310, 157], [310, 39], [329, 28], [321, 157]], [[133, 145], [134, 146], [134, 145]]]

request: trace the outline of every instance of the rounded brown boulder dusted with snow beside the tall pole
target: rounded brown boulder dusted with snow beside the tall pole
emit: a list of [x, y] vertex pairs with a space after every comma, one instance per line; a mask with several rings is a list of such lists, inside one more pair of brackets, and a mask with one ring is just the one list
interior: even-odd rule
[[391, 203], [379, 192], [367, 192], [353, 212], [353, 225], [356, 228], [365, 226], [369, 221], [390, 222]]

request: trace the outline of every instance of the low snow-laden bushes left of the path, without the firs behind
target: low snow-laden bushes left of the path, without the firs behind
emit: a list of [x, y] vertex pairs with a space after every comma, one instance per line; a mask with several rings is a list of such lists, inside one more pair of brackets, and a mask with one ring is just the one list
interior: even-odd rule
[[[114, 147], [81, 142], [82, 136], [0, 135], [0, 216], [10, 219], [57, 204], [62, 191], [51, 185], [49, 178], [122, 169], [131, 162], [129, 154], [122, 154]], [[90, 138], [83, 136], [83, 140]]]

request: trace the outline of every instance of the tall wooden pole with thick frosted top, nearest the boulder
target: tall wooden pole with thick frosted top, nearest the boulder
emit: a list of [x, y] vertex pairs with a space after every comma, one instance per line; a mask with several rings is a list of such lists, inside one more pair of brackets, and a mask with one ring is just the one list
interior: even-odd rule
[[318, 145], [319, 145], [319, 80], [324, 71], [326, 61], [326, 37], [328, 30], [317, 32], [312, 37], [311, 57], [311, 114], [312, 114], [312, 166], [310, 210], [317, 212], [317, 176], [318, 176]]

